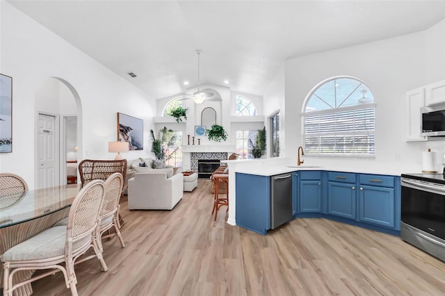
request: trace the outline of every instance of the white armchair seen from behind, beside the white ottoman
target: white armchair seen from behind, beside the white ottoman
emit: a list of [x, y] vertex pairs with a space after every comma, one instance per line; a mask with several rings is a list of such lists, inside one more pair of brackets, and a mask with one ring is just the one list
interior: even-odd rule
[[[152, 172], [153, 171], [153, 172]], [[128, 207], [130, 210], [171, 210], [184, 195], [184, 176], [167, 173], [136, 173], [128, 181]]]

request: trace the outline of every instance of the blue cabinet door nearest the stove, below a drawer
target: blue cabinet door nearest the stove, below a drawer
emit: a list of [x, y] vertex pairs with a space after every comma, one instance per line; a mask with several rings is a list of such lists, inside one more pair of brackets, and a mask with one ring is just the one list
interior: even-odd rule
[[396, 226], [395, 203], [394, 188], [361, 185], [359, 220], [394, 229]]

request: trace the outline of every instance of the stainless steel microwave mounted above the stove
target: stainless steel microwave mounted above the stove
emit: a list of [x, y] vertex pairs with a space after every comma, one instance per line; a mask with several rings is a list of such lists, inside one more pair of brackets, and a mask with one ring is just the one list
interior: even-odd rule
[[421, 135], [445, 136], [445, 104], [421, 108]]

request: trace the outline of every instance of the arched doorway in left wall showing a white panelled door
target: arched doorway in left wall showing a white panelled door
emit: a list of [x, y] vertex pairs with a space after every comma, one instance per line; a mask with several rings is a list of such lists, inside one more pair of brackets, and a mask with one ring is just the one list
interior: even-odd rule
[[74, 183], [82, 151], [79, 94], [65, 79], [49, 77], [35, 92], [35, 111], [36, 188]]

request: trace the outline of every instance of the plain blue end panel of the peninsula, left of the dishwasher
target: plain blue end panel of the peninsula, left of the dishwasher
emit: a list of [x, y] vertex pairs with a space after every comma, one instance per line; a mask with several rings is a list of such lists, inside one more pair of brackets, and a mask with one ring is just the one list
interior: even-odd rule
[[266, 234], [270, 229], [270, 178], [236, 173], [236, 224]]

